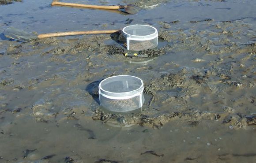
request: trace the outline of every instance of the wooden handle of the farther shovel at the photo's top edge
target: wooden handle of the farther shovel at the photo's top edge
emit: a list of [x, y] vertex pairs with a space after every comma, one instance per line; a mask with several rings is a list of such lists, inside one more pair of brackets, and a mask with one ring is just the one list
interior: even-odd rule
[[[87, 8], [100, 8], [100, 9], [110, 9], [110, 10], [118, 10], [120, 6], [98, 6], [98, 5], [90, 5], [90, 4], [74, 4], [74, 3], [65, 3], [53, 1], [52, 5], [62, 5], [62, 6], [73, 6], [73, 7], [87, 7]], [[122, 8], [123, 6], [121, 6]]]

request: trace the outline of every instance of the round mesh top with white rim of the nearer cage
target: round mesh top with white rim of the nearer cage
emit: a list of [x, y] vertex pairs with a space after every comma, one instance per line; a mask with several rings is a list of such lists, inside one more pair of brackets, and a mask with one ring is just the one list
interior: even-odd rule
[[143, 89], [143, 81], [130, 75], [109, 77], [99, 84], [100, 93], [113, 97], [136, 96], [138, 93], [143, 93]]

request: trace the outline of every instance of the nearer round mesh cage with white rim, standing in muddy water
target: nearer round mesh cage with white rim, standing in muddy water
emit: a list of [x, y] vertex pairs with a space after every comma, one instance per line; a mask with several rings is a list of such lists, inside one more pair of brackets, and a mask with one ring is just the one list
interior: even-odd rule
[[129, 75], [106, 78], [99, 84], [100, 105], [109, 111], [127, 112], [142, 107], [143, 81]]

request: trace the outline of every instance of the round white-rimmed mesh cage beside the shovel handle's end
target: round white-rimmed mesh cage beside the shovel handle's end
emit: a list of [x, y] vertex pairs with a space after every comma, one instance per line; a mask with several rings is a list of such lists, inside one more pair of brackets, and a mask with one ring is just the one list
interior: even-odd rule
[[140, 51], [158, 46], [158, 31], [153, 26], [131, 25], [123, 28], [127, 50]]

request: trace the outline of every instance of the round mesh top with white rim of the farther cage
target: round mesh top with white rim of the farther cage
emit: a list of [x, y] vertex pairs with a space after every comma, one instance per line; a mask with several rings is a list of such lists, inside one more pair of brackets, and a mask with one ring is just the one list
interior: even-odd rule
[[158, 35], [157, 29], [148, 25], [126, 26], [122, 31], [126, 37], [131, 38], [151, 38]]

